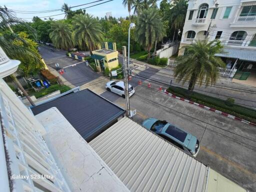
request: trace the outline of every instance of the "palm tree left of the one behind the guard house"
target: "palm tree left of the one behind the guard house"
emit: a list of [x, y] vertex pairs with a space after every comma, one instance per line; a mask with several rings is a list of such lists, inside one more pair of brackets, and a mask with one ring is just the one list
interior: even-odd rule
[[63, 20], [51, 23], [49, 37], [57, 48], [67, 50], [72, 47], [71, 31]]

